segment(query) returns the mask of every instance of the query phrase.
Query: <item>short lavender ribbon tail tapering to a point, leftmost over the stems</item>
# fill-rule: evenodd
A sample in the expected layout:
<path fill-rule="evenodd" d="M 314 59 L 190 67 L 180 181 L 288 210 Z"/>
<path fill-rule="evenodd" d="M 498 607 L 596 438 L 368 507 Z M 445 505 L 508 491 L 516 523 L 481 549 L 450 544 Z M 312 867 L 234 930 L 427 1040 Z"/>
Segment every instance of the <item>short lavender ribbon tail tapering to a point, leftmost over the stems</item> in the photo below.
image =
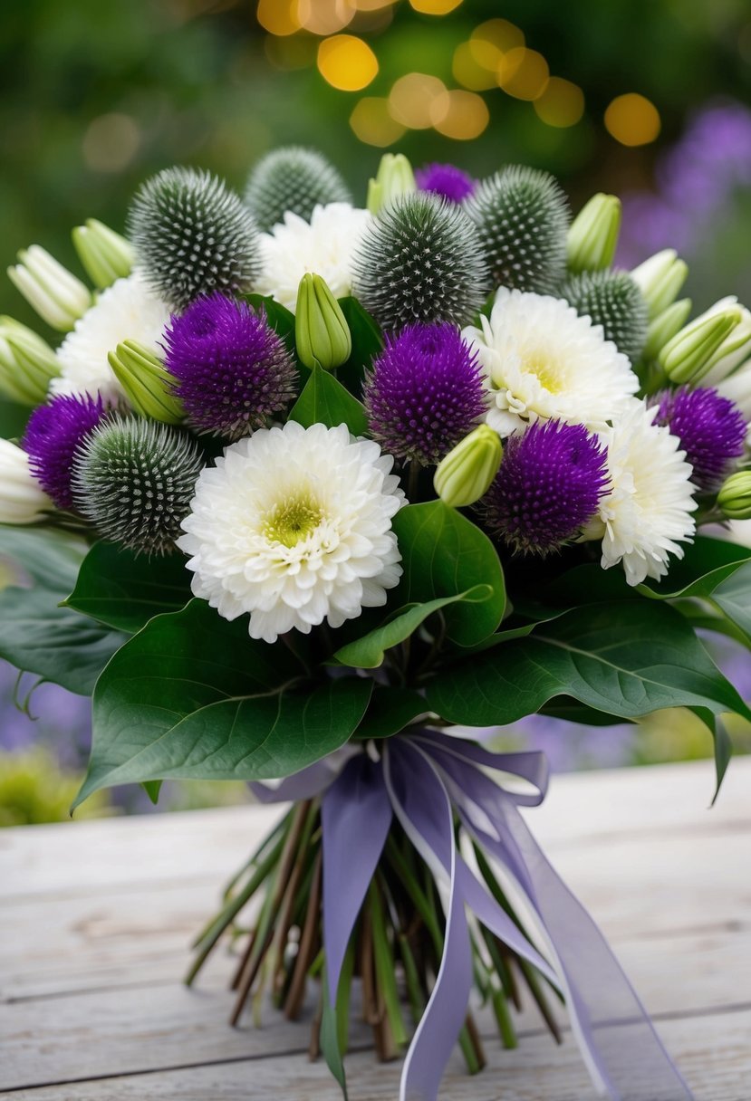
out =
<path fill-rule="evenodd" d="M 364 753 L 326 789 L 320 807 L 324 849 L 324 948 L 327 993 L 336 1003 L 347 945 L 391 826 L 383 771 Z"/>

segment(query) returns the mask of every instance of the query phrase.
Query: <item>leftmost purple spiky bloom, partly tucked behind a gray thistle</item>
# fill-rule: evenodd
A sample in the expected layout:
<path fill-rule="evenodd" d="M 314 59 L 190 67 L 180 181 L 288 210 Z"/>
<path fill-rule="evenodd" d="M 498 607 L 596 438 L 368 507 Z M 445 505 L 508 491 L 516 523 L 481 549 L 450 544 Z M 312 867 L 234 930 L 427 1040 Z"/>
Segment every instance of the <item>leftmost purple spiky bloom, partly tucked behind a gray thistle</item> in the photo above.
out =
<path fill-rule="evenodd" d="M 22 440 L 29 469 L 58 509 L 73 509 L 73 460 L 89 433 L 106 416 L 101 397 L 58 394 L 34 410 Z"/>

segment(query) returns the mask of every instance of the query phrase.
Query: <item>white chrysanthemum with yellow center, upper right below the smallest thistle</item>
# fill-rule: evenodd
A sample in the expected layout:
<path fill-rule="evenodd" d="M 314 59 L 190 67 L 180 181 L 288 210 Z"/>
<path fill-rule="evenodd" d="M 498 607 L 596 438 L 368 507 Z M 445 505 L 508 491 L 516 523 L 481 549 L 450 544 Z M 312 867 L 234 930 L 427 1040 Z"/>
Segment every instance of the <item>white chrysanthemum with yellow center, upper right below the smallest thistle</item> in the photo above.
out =
<path fill-rule="evenodd" d="M 481 324 L 462 336 L 477 350 L 490 392 L 488 424 L 501 436 L 553 418 L 603 430 L 639 389 L 602 327 L 562 298 L 501 287 Z"/>

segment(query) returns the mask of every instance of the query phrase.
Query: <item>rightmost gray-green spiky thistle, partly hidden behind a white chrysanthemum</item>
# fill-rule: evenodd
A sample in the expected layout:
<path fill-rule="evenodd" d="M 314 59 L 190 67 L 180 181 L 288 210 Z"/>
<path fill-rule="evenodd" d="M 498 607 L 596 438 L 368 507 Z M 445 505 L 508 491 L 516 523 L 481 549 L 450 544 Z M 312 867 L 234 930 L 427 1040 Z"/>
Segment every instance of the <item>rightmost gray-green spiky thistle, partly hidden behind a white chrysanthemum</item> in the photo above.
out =
<path fill-rule="evenodd" d="M 560 297 L 580 316 L 601 325 L 606 340 L 635 363 L 646 340 L 647 308 L 644 296 L 628 272 L 583 272 L 572 275 Z"/>

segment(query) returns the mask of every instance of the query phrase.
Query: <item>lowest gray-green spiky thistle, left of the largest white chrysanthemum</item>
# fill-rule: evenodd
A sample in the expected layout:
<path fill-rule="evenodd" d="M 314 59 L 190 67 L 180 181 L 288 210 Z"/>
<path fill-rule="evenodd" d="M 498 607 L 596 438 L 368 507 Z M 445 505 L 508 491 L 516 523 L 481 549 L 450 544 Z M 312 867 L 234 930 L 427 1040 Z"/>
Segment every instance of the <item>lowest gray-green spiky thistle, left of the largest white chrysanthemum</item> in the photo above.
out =
<path fill-rule="evenodd" d="M 149 555 L 171 554 L 203 467 L 187 433 L 116 416 L 76 456 L 74 502 L 104 538 Z"/>

